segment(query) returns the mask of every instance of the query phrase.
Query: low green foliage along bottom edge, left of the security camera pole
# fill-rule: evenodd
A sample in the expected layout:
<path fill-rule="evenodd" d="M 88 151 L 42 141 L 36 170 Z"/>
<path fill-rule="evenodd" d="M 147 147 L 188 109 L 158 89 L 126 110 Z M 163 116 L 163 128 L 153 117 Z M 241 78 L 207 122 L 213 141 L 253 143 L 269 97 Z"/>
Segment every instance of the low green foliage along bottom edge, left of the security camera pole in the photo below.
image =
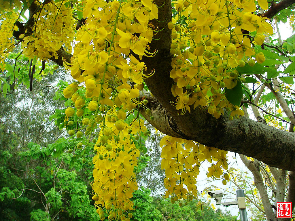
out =
<path fill-rule="evenodd" d="M 150 190 L 141 187 L 135 191 L 132 198 L 136 210 L 132 221 L 237 221 L 236 216 L 231 216 L 229 212 L 224 213 L 220 209 L 216 212 L 209 203 L 192 200 L 187 205 L 179 206 L 179 202 L 172 204 L 169 199 L 162 197 L 151 197 Z"/>

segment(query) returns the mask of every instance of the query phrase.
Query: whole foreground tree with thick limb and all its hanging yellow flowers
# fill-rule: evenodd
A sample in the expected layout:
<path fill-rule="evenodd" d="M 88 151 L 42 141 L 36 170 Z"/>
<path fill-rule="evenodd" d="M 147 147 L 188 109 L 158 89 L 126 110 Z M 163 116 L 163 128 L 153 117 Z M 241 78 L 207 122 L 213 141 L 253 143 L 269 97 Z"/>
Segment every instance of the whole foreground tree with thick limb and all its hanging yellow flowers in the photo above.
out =
<path fill-rule="evenodd" d="M 207 177 L 226 183 L 227 151 L 295 171 L 294 40 L 273 35 L 293 3 L 0 1 L 2 92 L 26 81 L 34 90 L 49 60 L 72 76 L 57 95 L 66 109 L 50 119 L 76 138 L 73 157 L 86 162 L 94 150 L 101 220 L 106 211 L 110 220 L 132 218 L 126 211 L 135 209 L 130 198 L 150 136 L 145 121 L 166 135 L 159 144 L 171 202 L 197 197 L 202 161 L 212 165 Z"/>

